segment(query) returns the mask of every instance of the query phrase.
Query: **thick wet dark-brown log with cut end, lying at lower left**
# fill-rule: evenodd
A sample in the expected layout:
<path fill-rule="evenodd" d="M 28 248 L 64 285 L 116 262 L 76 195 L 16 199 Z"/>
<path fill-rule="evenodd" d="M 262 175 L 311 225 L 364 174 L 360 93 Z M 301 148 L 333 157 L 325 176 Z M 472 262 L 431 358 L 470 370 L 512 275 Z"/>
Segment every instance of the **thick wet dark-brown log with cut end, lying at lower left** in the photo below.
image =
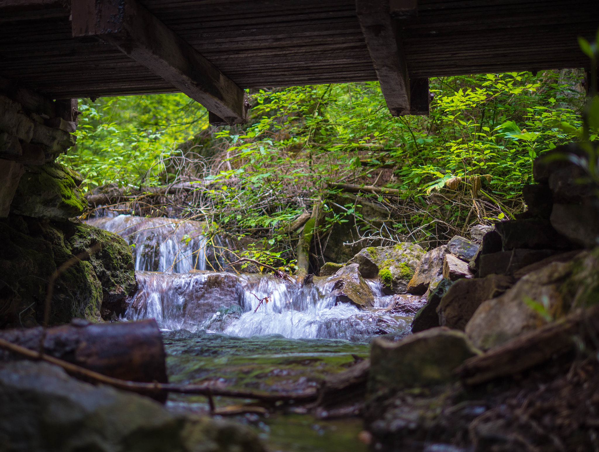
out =
<path fill-rule="evenodd" d="M 44 355 L 84 369 L 130 381 L 168 382 L 162 335 L 153 319 L 110 324 L 75 319 L 69 325 L 47 330 L 36 327 L 0 331 L 0 339 L 34 354 L 39 354 L 43 339 Z M 0 360 L 15 358 L 10 351 L 0 351 Z"/>

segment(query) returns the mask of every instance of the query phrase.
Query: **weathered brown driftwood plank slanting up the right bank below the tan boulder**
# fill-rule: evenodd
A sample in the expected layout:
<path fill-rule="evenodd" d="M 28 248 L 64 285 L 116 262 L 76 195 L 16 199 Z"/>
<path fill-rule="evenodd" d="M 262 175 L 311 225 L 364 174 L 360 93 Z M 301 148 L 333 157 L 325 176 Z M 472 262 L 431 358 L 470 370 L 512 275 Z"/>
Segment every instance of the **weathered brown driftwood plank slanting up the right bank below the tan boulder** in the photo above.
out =
<path fill-rule="evenodd" d="M 576 338 L 596 342 L 598 332 L 599 305 L 596 305 L 470 358 L 455 372 L 469 385 L 513 375 L 571 351 Z"/>

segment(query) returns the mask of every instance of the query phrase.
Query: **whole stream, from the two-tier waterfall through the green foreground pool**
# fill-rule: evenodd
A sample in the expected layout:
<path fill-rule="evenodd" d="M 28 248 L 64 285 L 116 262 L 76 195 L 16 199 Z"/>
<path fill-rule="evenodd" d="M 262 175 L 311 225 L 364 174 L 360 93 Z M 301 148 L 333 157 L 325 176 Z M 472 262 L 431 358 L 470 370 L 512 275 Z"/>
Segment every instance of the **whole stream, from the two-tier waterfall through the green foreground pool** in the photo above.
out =
<path fill-rule="evenodd" d="M 418 297 L 386 296 L 378 279 L 365 280 L 371 306 L 342 303 L 334 276 L 315 276 L 304 285 L 273 275 L 205 270 L 210 253 L 199 222 L 129 215 L 88 222 L 132 246 L 138 288 L 121 320 L 156 319 L 171 382 L 300 393 L 367 358 L 373 337 L 398 339 L 409 332 L 413 312 L 391 308 Z M 240 400 L 215 397 L 215 403 L 218 408 Z M 209 411 L 204 396 L 171 394 L 167 406 Z M 359 407 L 355 413 L 316 414 L 291 402 L 282 408 L 270 416 L 234 418 L 256 429 L 272 451 L 367 450 L 357 441 Z"/>

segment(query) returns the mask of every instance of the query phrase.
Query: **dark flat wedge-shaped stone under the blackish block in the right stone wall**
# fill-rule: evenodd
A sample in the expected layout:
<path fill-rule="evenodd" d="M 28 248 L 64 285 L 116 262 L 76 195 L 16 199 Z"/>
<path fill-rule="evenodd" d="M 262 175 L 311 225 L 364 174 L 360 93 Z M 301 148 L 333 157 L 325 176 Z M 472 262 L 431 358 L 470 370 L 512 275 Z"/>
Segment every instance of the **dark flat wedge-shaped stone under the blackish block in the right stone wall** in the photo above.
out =
<path fill-rule="evenodd" d="M 555 249 L 512 249 L 480 256 L 479 278 L 488 275 L 512 275 L 522 267 L 558 254 Z"/>

